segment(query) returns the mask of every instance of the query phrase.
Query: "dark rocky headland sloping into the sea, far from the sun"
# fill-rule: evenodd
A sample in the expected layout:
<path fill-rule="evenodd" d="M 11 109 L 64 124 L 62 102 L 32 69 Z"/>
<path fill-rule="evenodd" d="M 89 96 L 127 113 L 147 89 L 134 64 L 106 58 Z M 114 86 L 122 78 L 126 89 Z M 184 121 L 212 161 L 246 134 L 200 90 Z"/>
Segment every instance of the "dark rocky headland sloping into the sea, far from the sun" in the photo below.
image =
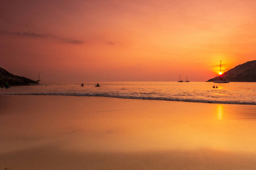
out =
<path fill-rule="evenodd" d="M 10 86 L 24 86 L 30 84 L 38 84 L 34 80 L 28 79 L 24 76 L 13 75 L 0 67 L 0 84 L 9 82 Z"/>

